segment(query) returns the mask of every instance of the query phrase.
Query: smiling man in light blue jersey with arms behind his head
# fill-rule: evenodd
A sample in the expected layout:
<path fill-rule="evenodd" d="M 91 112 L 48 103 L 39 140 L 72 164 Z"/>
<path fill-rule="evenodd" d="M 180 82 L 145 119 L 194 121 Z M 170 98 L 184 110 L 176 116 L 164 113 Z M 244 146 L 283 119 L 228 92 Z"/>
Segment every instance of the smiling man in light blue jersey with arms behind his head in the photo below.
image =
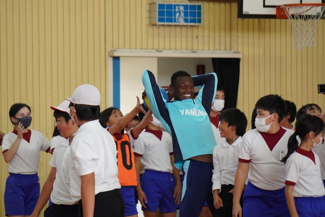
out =
<path fill-rule="evenodd" d="M 214 73 L 191 77 L 177 71 L 170 88 L 175 101 L 166 101 L 154 75 L 146 70 L 142 82 L 151 110 L 173 138 L 175 166 L 184 172 L 180 217 L 197 217 L 207 201 L 213 211 L 212 153 L 216 145 L 209 114 L 217 77 Z M 193 99 L 194 87 L 202 87 Z"/>

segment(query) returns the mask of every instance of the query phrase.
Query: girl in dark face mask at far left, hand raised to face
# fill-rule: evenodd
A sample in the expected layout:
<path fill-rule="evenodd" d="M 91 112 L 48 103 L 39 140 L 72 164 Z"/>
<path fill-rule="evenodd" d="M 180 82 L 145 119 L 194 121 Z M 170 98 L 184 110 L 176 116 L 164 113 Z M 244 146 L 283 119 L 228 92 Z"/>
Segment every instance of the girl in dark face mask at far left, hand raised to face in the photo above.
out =
<path fill-rule="evenodd" d="M 50 142 L 42 133 L 28 129 L 32 123 L 28 105 L 13 104 L 9 117 L 15 128 L 2 141 L 2 153 L 9 164 L 4 195 L 6 216 L 28 216 L 40 195 L 39 152 L 49 152 Z"/>

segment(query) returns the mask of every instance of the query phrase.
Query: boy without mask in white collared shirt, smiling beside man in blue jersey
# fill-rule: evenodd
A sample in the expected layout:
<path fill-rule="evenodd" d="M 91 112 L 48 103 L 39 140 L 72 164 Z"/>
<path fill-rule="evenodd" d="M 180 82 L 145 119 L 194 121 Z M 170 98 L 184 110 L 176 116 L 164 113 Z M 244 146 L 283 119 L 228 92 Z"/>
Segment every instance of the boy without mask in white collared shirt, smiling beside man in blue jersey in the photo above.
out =
<path fill-rule="evenodd" d="M 246 131 L 247 118 L 239 109 L 229 108 L 221 112 L 219 120 L 220 135 L 226 138 L 226 141 L 215 146 L 213 150 L 213 216 L 228 217 L 232 216 L 232 193 L 238 167 L 238 153 L 241 137 Z"/>

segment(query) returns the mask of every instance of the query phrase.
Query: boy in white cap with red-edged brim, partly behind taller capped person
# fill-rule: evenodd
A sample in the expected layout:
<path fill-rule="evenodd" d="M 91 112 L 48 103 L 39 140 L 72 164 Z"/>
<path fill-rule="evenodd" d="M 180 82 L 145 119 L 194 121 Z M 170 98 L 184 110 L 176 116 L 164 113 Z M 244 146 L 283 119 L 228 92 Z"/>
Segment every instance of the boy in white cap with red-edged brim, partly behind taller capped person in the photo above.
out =
<path fill-rule="evenodd" d="M 50 161 L 51 171 L 44 183 L 40 198 L 37 201 L 31 217 L 39 216 L 47 200 L 51 198 L 51 205 L 45 210 L 45 217 L 77 217 L 78 204 L 71 199 L 70 190 L 70 159 L 71 141 L 73 134 L 77 132 L 79 126 L 71 120 L 69 115 L 70 101 L 65 100 L 59 106 L 50 108 L 54 110 L 54 117 L 57 120 L 60 138 L 64 139 L 56 144 Z M 53 189 L 53 190 L 52 190 Z"/>

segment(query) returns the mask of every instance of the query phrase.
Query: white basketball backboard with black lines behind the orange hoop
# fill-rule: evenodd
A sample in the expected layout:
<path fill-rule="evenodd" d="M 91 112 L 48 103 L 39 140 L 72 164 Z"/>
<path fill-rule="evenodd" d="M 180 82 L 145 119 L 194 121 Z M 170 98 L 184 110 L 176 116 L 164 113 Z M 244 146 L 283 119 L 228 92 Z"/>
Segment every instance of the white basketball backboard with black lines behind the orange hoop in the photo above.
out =
<path fill-rule="evenodd" d="M 276 6 L 284 4 L 325 3 L 325 0 L 239 0 L 239 18 L 276 18 Z"/>

